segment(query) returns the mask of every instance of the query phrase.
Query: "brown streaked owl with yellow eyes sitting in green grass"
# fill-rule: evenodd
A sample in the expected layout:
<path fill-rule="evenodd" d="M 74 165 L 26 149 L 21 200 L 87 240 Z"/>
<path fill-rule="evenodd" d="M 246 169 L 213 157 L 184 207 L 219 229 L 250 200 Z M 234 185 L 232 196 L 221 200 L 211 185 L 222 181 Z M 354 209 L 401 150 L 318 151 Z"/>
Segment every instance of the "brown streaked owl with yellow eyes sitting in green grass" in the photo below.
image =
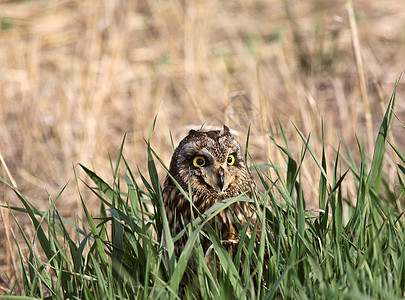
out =
<path fill-rule="evenodd" d="M 243 159 L 242 149 L 232 136 L 227 126 L 222 130 L 191 130 L 180 142 L 173 153 L 169 173 L 188 193 L 192 192 L 192 201 L 200 213 L 206 212 L 214 204 L 241 194 L 252 198 L 255 183 Z M 192 213 L 190 202 L 176 187 L 168 175 L 163 188 L 163 200 L 169 225 L 178 234 L 191 220 L 197 217 Z M 249 220 L 254 226 L 256 215 L 251 204 L 237 201 L 221 211 L 210 220 L 210 225 L 217 230 L 223 245 L 227 248 L 237 244 L 238 237 L 234 217 L 242 226 Z M 248 230 L 251 233 L 251 230 Z M 175 244 L 176 255 L 181 253 L 186 240 L 179 239 Z M 203 250 L 212 244 L 208 238 L 201 236 Z M 230 252 L 234 251 L 228 249 Z"/>

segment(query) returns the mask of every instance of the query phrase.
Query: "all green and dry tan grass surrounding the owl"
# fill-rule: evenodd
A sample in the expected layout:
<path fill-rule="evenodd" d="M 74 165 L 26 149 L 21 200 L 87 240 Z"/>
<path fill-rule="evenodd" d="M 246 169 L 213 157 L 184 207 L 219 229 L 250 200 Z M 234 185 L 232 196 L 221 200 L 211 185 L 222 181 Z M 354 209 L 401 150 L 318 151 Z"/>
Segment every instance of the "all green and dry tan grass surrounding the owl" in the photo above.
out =
<path fill-rule="evenodd" d="M 0 295 L 403 297 L 404 46 L 395 0 L 0 1 Z M 233 263 L 208 231 L 218 268 L 201 218 L 170 256 L 160 202 L 201 124 L 247 141 L 259 190 L 212 211 L 274 234 L 240 228 Z"/>

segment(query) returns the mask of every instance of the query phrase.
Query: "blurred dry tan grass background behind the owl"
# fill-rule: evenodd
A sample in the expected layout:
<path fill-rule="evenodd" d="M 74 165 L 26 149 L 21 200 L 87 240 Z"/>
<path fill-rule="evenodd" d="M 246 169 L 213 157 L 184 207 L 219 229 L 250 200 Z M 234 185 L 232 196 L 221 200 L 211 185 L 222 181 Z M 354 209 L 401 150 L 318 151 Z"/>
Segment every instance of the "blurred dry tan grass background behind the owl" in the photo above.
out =
<path fill-rule="evenodd" d="M 330 161 L 340 141 L 356 149 L 355 135 L 370 157 L 405 66 L 404 7 L 403 0 L 0 0 L 0 176 L 42 209 L 48 193 L 67 184 L 56 206 L 82 216 L 73 168 L 87 181 L 82 163 L 111 182 L 109 154 L 115 160 L 127 134 L 124 154 L 145 171 L 143 139 L 157 114 L 152 146 L 166 164 L 170 131 L 177 144 L 205 122 L 227 124 L 242 144 L 251 126 L 255 163 L 270 157 L 285 166 L 267 134 L 281 141 L 280 120 L 298 159 L 293 121 L 311 133 L 319 155 L 321 117 Z M 402 121 L 404 90 L 400 83 Z M 402 150 L 403 132 L 395 122 L 390 139 Z M 394 185 L 395 162 L 387 164 Z M 303 175 L 314 208 L 319 172 L 311 160 Z M 355 195 L 346 185 L 346 196 Z M 96 214 L 97 200 L 80 189 Z M 6 201 L 21 205 L 1 185 Z M 17 229 L 1 212 L 0 283 L 8 292 L 18 272 Z"/>

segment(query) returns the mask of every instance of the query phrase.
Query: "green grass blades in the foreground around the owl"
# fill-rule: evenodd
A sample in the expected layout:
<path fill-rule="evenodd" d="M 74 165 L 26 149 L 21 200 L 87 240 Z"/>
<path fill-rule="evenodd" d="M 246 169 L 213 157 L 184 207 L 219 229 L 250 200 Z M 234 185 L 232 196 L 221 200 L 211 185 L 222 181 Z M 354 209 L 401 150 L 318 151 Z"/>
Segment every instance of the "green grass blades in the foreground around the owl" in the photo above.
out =
<path fill-rule="evenodd" d="M 298 159 L 292 156 L 284 137 L 285 144 L 275 142 L 275 146 L 285 158 L 286 168 L 274 168 L 275 178 L 262 172 L 265 167 L 273 168 L 271 161 L 268 165 L 252 165 L 251 170 L 258 173 L 266 188 L 263 194 L 255 199 L 226 199 L 204 214 L 195 212 L 194 221 L 179 236 L 172 236 L 163 207 L 157 168 L 167 168 L 149 141 L 148 174 L 140 174 L 140 182 L 122 154 L 124 142 L 116 162 L 111 162 L 112 186 L 81 166 L 94 183 L 88 188 L 100 199 L 97 218 L 88 211 L 81 195 L 86 219 L 73 223 L 58 213 L 55 204 L 60 194 L 50 196 L 48 209 L 40 211 L 0 179 L 14 189 L 23 205 L 10 207 L 13 216 L 14 211 L 22 211 L 35 227 L 34 237 L 19 227 L 29 255 L 23 256 L 21 245 L 16 243 L 22 288 L 16 287 L 12 293 L 69 299 L 404 297 L 405 154 L 387 142 L 395 93 L 396 87 L 369 166 L 359 142 L 360 162 L 356 164 L 350 152 L 344 156 L 338 146 L 334 168 L 327 170 L 325 144 L 321 145 L 321 157 L 317 157 L 310 138 L 296 128 L 302 139 Z M 153 129 L 154 125 L 151 134 Z M 384 178 L 387 146 L 400 161 L 395 190 Z M 301 166 L 307 159 L 315 161 L 321 174 L 319 216 L 305 209 Z M 356 199 L 344 197 L 343 183 L 349 173 L 357 179 Z M 125 182 L 121 181 L 122 174 Z M 189 191 L 183 193 L 190 199 Z M 240 228 L 240 243 L 233 259 L 207 221 L 235 201 L 250 201 L 256 208 L 261 222 L 250 226 L 260 229 L 262 235 L 260 240 L 254 235 L 249 238 L 247 227 Z M 347 213 L 344 207 L 348 207 Z M 208 263 L 199 240 L 204 227 L 216 253 Z M 175 257 L 174 242 L 183 234 L 188 241 L 180 257 Z M 194 270 L 188 269 L 190 257 L 195 262 Z"/>

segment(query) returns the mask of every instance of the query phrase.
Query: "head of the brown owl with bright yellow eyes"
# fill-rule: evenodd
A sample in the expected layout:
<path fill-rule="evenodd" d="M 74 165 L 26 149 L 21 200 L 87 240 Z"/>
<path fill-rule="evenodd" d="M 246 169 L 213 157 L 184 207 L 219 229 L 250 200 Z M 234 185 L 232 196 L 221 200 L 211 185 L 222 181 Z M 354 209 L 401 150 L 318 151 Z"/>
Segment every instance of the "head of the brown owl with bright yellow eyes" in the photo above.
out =
<path fill-rule="evenodd" d="M 190 130 L 176 148 L 170 174 L 188 190 L 235 196 L 247 181 L 248 171 L 241 146 L 227 126 L 222 130 Z"/>

